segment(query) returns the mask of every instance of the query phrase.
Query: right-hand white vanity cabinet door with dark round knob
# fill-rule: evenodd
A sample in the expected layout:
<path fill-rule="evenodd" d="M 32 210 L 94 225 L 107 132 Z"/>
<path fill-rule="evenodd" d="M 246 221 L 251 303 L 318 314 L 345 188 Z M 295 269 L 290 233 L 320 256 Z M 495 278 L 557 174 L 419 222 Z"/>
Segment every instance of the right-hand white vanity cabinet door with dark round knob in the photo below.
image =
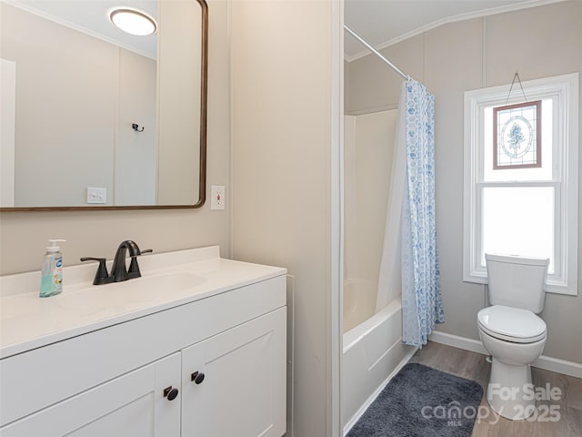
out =
<path fill-rule="evenodd" d="M 183 437 L 285 432 L 285 307 L 182 351 Z"/>

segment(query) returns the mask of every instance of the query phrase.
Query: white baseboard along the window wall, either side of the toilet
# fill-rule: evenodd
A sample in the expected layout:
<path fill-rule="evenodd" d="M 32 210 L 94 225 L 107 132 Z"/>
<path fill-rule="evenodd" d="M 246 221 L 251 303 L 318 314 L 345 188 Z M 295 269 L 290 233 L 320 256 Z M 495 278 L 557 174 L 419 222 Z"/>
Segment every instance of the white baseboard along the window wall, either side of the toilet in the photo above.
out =
<path fill-rule="evenodd" d="M 433 333 L 428 336 L 428 340 L 446 344 L 447 346 L 453 346 L 454 348 L 464 349 L 465 351 L 473 351 L 482 353 L 483 355 L 488 355 L 483 344 L 479 340 L 467 339 L 467 337 L 459 337 L 458 335 L 448 334 L 447 332 L 441 332 L 439 330 L 434 330 Z M 542 355 L 532 363 L 532 366 L 537 367 L 538 369 L 544 369 L 545 371 L 556 371 L 557 373 L 582 379 L 582 364 L 578 362 L 560 360 L 559 358 Z"/>

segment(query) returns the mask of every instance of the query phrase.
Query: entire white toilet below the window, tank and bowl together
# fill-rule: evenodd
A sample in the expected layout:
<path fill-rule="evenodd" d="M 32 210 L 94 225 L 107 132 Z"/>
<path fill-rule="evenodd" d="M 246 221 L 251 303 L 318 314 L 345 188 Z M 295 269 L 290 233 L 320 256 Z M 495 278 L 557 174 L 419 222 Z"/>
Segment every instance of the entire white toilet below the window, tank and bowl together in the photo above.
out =
<path fill-rule="evenodd" d="M 536 409 L 530 364 L 544 350 L 544 281 L 549 259 L 486 254 L 489 301 L 477 314 L 479 338 L 492 356 L 487 401 L 511 420 Z"/>

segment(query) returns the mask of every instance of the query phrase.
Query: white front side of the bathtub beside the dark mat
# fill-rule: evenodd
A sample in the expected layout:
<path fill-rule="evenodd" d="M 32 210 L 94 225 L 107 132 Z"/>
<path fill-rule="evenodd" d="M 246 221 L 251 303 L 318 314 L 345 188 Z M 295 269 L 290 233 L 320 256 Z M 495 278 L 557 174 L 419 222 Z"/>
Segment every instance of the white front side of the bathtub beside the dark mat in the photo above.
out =
<path fill-rule="evenodd" d="M 402 344 L 400 300 L 393 300 L 384 310 L 344 333 L 344 435 L 415 351 Z"/>

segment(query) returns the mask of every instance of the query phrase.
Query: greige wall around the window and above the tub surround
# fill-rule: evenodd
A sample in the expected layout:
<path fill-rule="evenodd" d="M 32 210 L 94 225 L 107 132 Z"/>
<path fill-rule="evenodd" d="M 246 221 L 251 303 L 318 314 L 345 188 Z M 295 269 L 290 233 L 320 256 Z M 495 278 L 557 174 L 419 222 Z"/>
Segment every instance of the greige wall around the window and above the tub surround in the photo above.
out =
<path fill-rule="evenodd" d="M 442 25 L 382 53 L 435 94 L 437 238 L 447 319 L 438 330 L 478 340 L 477 311 L 486 304 L 485 287 L 462 280 L 463 93 L 511 83 L 516 71 L 522 80 L 582 71 L 582 2 Z M 347 113 L 397 105 L 401 78 L 396 73 L 373 56 L 348 68 Z M 582 198 L 578 202 L 582 205 Z M 578 229 L 580 253 L 582 228 Z M 547 356 L 582 362 L 582 275 L 578 281 L 577 297 L 547 294 L 541 314 L 547 322 Z"/>

